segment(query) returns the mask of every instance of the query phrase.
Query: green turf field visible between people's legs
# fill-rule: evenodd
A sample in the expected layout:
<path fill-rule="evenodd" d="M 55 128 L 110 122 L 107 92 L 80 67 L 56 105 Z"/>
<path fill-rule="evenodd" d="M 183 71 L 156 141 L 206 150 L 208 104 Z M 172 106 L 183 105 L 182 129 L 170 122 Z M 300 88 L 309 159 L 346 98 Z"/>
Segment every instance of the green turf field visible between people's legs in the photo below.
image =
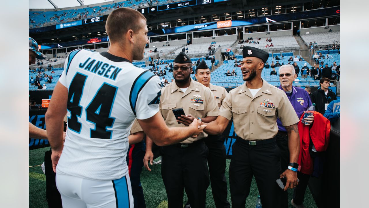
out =
<path fill-rule="evenodd" d="M 50 148 L 41 148 L 37 150 L 29 151 L 29 166 L 41 165 L 44 161 L 44 152 Z M 227 166 L 225 171 L 225 177 L 228 182 L 228 168 L 230 160 L 227 160 Z M 166 201 L 166 193 L 161 178 L 160 164 L 152 165 L 151 172 L 146 169 L 142 170 L 141 183 L 144 188 L 144 195 L 147 208 L 166 208 L 168 203 Z M 41 166 L 29 168 L 29 207 L 30 208 L 48 208 L 46 202 L 46 181 L 45 175 L 41 170 Z M 258 187 L 255 180 L 252 181 L 250 195 L 246 200 L 247 208 L 254 208 L 256 197 L 258 196 Z M 289 190 L 289 200 L 292 199 L 292 190 Z M 184 194 L 184 203 L 187 201 L 186 194 Z M 228 186 L 228 201 L 231 201 L 231 195 Z M 306 208 L 315 208 L 314 199 L 311 196 L 310 190 L 307 188 L 304 205 Z M 289 207 L 292 208 L 290 204 Z M 211 187 L 207 189 L 206 208 L 215 208 L 213 196 L 211 195 Z"/>

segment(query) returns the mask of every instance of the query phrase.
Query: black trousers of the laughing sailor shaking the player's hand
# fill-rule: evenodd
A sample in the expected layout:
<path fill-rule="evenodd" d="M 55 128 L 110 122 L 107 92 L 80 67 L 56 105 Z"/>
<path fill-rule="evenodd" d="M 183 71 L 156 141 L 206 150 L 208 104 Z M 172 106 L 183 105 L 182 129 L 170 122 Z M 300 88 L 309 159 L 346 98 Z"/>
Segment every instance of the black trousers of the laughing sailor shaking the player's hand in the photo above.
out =
<path fill-rule="evenodd" d="M 245 208 L 252 176 L 255 176 L 263 208 L 280 207 L 282 190 L 276 183 L 282 173 L 280 154 L 275 141 L 252 146 L 241 138 L 236 140 L 229 170 L 232 208 Z"/>

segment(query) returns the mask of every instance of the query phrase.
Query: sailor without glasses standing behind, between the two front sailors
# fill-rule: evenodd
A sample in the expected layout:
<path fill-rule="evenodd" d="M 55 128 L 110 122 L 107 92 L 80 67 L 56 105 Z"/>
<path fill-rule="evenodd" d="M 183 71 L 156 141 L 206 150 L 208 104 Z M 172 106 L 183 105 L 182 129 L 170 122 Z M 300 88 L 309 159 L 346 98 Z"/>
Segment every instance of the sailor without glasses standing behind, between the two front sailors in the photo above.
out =
<path fill-rule="evenodd" d="M 224 87 L 219 87 L 210 83 L 210 69 L 205 61 L 201 61 L 195 70 L 195 77 L 197 81 L 208 87 L 213 93 L 218 107 L 222 105 L 222 101 L 227 96 L 227 90 Z M 214 198 L 216 208 L 229 208 L 230 203 L 227 201 L 227 181 L 225 180 L 225 160 L 227 154 L 224 146 L 223 134 L 208 135 L 204 138 L 204 142 L 209 149 L 207 158 L 211 192 Z"/>

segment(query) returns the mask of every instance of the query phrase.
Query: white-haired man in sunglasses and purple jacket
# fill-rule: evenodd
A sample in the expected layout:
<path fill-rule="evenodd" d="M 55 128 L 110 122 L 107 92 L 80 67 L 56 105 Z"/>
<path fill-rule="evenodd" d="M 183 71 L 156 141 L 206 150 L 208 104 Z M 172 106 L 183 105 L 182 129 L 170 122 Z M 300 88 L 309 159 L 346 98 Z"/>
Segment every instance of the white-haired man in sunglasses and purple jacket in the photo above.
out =
<path fill-rule="evenodd" d="M 294 110 L 296 111 L 297 116 L 300 118 L 302 114 L 304 114 L 308 107 L 311 105 L 311 100 L 308 92 L 304 90 L 301 87 L 294 87 L 293 81 L 296 79 L 296 74 L 294 67 L 292 65 L 283 65 L 279 68 L 279 89 L 283 90 L 287 98 L 290 100 Z M 314 121 L 314 116 L 309 115 L 305 119 L 306 123 L 305 125 L 310 125 Z M 290 164 L 289 163 L 289 150 L 288 150 L 288 136 L 287 136 L 287 130 L 283 127 L 282 122 L 277 119 L 277 125 L 278 125 L 278 133 L 276 135 L 276 142 L 278 147 L 281 151 L 281 160 L 280 164 L 283 168 L 296 164 Z M 301 165 L 301 164 L 299 164 Z M 291 201 L 291 204 L 293 207 L 303 207 L 303 199 L 305 195 L 305 189 L 308 182 L 309 175 L 304 175 L 300 172 L 297 172 L 297 178 L 299 178 L 300 182 L 299 185 L 294 189 L 293 199 Z M 307 178 L 306 180 L 304 180 Z M 297 192 L 296 192 L 297 190 Z M 301 191 L 299 191 L 301 190 Z M 302 198 L 301 198 L 302 195 Z M 282 195 L 282 208 L 288 207 L 288 193 L 287 191 L 283 193 Z"/>

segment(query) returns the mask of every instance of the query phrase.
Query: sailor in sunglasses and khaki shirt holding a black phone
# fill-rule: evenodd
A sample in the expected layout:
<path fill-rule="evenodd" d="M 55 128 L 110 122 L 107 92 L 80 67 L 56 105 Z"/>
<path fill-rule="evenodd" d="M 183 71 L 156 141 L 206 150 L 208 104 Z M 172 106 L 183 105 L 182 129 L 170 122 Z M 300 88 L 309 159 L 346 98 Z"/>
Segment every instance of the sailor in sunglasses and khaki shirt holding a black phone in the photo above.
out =
<path fill-rule="evenodd" d="M 174 82 L 162 88 L 159 111 L 168 127 L 181 127 L 190 121 L 180 121 L 175 113 L 191 114 L 205 123 L 217 118 L 219 109 L 211 90 L 190 77 L 192 61 L 181 52 L 173 61 Z M 178 114 L 177 114 L 178 115 Z M 188 201 L 192 207 L 205 208 L 206 190 L 209 186 L 207 167 L 208 148 L 203 139 L 206 133 L 198 137 L 189 137 L 175 145 L 161 147 L 161 172 L 168 197 L 168 208 L 183 207 L 183 189 L 186 189 Z M 147 154 L 147 152 L 146 152 Z"/>

